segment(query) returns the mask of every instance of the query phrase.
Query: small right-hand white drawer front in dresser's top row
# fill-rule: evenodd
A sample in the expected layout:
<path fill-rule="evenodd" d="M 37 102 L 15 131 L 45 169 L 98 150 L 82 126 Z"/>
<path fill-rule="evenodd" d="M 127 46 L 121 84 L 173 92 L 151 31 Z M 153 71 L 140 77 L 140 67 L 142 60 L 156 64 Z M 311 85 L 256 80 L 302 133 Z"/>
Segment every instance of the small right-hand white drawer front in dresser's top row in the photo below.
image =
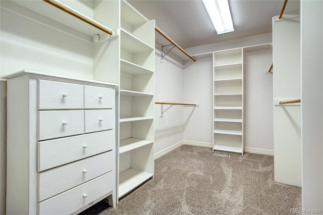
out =
<path fill-rule="evenodd" d="M 84 86 L 84 108 L 115 108 L 115 90 L 112 88 Z"/>

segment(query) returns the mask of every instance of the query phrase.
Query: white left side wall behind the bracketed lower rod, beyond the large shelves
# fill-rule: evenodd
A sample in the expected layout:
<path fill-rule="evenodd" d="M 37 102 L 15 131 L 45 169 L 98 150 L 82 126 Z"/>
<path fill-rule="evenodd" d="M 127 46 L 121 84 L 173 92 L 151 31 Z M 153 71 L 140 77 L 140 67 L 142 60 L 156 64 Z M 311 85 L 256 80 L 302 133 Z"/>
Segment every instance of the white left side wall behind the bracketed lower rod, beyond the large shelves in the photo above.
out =
<path fill-rule="evenodd" d="M 157 48 L 158 44 L 156 44 Z M 159 46 L 158 46 L 159 47 Z M 159 51 L 155 55 L 155 101 L 183 102 L 182 66 L 166 57 L 160 63 Z M 164 111 L 170 105 L 163 104 Z M 183 141 L 183 106 L 173 105 L 161 116 L 161 104 L 155 104 L 154 152 Z"/>

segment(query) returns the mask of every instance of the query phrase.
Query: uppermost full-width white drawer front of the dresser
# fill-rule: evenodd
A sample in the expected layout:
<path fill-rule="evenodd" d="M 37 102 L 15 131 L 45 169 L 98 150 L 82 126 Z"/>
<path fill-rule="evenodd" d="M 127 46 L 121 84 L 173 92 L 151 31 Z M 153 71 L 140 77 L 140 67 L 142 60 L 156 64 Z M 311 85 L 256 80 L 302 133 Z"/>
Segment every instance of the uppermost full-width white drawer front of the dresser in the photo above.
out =
<path fill-rule="evenodd" d="M 38 172 L 114 150 L 115 145 L 115 130 L 39 141 L 37 145 Z"/>

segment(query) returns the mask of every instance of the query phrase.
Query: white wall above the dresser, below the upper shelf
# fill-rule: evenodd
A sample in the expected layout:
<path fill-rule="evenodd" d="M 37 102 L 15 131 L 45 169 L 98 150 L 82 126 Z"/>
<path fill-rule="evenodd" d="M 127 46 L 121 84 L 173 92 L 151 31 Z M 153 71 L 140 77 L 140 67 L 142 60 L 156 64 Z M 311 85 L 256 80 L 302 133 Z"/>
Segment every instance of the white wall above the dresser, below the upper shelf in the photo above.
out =
<path fill-rule="evenodd" d="M 26 69 L 92 79 L 91 43 L 64 33 L 61 30 L 71 30 L 11 1 L 1 1 L 1 7 L 2 76 Z"/>

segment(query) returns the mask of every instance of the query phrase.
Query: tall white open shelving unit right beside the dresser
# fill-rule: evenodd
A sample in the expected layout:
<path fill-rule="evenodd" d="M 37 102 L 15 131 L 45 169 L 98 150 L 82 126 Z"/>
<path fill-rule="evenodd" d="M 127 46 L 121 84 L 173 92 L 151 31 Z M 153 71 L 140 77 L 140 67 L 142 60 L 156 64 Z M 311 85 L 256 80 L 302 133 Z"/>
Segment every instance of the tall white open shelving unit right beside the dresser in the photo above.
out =
<path fill-rule="evenodd" d="M 154 173 L 154 26 L 121 1 L 119 198 Z"/>

